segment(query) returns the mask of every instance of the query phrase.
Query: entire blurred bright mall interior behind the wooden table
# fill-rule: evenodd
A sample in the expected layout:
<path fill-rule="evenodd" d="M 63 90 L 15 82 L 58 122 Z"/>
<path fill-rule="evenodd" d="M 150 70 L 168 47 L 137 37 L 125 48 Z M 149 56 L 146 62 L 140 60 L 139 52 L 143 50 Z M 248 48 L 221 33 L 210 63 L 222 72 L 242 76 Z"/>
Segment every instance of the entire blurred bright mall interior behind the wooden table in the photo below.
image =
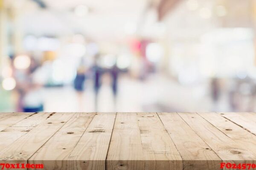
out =
<path fill-rule="evenodd" d="M 0 0 L 0 112 L 255 112 L 256 0 Z"/>

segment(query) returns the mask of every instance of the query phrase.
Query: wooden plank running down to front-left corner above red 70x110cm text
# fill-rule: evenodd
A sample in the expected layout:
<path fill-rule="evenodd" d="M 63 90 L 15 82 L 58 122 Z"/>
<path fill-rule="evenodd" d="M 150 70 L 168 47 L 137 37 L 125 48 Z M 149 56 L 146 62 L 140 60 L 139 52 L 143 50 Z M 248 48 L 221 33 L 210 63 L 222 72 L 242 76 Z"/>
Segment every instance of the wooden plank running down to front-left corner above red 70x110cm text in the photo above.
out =
<path fill-rule="evenodd" d="M 27 163 L 27 160 L 52 137 L 74 113 L 56 113 L 0 152 L 3 163 Z M 64 123 L 61 123 L 64 122 Z"/>

